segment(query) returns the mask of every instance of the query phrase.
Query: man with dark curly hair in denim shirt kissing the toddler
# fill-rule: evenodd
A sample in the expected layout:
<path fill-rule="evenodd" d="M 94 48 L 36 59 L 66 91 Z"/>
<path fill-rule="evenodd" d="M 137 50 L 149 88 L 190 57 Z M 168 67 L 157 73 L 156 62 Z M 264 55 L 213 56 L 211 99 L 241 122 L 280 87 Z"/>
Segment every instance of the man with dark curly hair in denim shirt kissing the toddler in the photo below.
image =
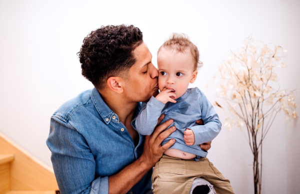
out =
<path fill-rule="evenodd" d="M 84 38 L 78 54 L 82 75 L 95 88 L 51 117 L 47 146 L 61 194 L 151 191 L 151 169 L 174 140 L 160 144 L 176 129 L 165 130 L 172 120 L 146 137 L 134 129 L 139 102 L 158 94 L 158 72 L 141 31 L 102 26 Z M 201 146 L 208 150 L 210 143 Z"/>

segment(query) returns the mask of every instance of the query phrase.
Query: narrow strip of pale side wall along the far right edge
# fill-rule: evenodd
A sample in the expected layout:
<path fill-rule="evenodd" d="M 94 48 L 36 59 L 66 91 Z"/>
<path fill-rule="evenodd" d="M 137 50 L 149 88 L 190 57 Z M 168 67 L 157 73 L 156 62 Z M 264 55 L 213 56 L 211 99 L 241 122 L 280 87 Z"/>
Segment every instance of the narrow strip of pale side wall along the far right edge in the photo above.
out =
<path fill-rule="evenodd" d="M 282 46 L 288 50 L 286 63 L 283 70 L 284 88 L 300 89 L 300 1 L 280 0 L 281 15 L 281 41 Z M 297 91 L 297 112 L 300 113 L 300 90 Z M 297 121 L 284 122 L 285 149 L 286 149 L 286 192 L 296 194 L 300 191 L 300 127 Z"/>

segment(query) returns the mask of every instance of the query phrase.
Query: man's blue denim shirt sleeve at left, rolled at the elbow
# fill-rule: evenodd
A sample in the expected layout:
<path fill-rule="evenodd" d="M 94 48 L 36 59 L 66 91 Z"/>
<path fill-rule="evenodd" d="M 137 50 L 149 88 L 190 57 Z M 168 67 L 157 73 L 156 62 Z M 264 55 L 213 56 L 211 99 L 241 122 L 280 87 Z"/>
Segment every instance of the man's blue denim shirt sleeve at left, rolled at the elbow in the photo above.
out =
<path fill-rule="evenodd" d="M 84 137 L 52 116 L 47 146 L 61 194 L 108 194 L 108 177 L 95 177 L 95 161 Z"/>

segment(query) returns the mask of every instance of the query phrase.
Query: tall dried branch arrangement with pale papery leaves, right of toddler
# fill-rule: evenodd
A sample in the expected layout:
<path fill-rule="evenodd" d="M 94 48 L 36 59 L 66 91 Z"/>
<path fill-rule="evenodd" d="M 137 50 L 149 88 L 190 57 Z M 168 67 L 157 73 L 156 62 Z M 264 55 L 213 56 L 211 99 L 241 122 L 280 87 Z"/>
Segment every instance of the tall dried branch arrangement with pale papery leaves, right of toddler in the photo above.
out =
<path fill-rule="evenodd" d="M 258 47 L 255 42 L 262 46 Z M 274 89 L 270 85 L 278 79 L 274 68 L 286 67 L 285 63 L 280 62 L 286 56 L 286 50 L 274 44 L 254 41 L 251 36 L 245 38 L 243 43 L 243 47 L 231 51 L 227 60 L 221 62 L 218 71 L 208 81 L 207 88 L 212 85 L 212 80 L 219 80 L 215 91 L 230 113 L 224 126 L 229 131 L 234 125 L 247 131 L 247 141 L 253 153 L 254 191 L 260 194 L 262 141 L 278 112 L 283 110 L 287 120 L 297 117 L 297 103 L 294 101 L 294 90 Z M 219 102 L 215 105 L 225 107 Z"/>

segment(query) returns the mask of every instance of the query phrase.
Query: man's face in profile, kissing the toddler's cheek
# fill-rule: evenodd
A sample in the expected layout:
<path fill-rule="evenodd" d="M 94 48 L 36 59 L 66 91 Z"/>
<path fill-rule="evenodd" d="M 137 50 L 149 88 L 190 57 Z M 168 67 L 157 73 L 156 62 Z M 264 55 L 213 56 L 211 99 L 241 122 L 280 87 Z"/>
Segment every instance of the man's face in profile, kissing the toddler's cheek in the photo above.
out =
<path fill-rule="evenodd" d="M 145 102 L 158 94 L 158 71 L 152 64 L 152 54 L 142 43 L 133 51 L 136 62 L 128 71 L 124 94 L 134 102 Z"/>

